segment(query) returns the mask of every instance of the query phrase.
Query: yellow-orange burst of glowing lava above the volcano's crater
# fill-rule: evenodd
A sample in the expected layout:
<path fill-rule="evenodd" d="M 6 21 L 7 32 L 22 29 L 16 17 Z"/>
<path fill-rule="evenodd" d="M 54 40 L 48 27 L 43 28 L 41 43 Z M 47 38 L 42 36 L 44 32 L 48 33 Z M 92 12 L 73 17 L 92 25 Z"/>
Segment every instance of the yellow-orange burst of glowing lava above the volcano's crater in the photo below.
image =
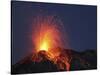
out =
<path fill-rule="evenodd" d="M 64 26 L 57 16 L 38 15 L 33 20 L 32 32 L 33 47 L 36 52 L 45 50 L 51 52 L 54 56 L 59 54 L 59 50 L 51 49 L 64 45 L 68 48 L 67 34 L 64 34 Z"/>

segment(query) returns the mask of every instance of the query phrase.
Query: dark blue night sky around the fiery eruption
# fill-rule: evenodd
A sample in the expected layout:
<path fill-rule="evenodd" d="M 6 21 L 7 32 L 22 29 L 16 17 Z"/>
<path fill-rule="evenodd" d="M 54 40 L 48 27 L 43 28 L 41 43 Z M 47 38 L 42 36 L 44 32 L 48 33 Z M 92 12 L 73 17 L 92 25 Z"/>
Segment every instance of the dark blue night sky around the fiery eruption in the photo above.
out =
<path fill-rule="evenodd" d="M 12 64 L 33 49 L 32 19 L 40 11 L 59 16 L 71 49 L 97 49 L 97 7 L 70 4 L 45 4 L 12 1 Z"/>

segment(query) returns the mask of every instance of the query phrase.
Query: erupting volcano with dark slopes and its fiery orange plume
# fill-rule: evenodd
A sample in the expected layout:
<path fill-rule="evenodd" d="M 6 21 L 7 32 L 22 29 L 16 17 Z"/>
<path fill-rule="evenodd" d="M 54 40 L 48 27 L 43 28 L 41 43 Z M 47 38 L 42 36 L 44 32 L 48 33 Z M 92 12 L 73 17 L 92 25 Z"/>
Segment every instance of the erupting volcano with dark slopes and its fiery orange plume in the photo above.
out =
<path fill-rule="evenodd" d="M 12 73 L 96 69 L 96 50 L 77 52 L 69 49 L 68 34 L 57 16 L 36 16 L 32 26 L 33 52 L 13 65 Z"/>

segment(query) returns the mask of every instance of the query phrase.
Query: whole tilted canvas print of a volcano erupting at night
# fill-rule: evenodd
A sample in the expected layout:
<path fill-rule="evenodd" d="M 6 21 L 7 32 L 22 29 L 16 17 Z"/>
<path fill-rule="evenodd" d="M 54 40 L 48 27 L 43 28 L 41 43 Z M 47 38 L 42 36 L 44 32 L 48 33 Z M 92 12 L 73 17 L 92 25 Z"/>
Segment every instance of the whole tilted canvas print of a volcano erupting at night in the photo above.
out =
<path fill-rule="evenodd" d="M 97 69 L 97 7 L 11 2 L 11 73 Z"/>

